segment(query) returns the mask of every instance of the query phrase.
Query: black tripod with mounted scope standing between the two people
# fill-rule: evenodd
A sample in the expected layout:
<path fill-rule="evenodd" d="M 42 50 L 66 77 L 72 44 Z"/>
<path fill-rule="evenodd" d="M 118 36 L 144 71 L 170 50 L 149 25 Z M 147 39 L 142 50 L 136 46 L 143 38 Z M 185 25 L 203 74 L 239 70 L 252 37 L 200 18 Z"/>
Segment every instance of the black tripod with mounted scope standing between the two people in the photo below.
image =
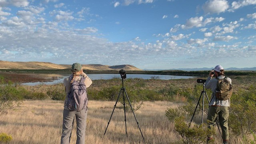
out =
<path fill-rule="evenodd" d="M 130 107 L 131 107 L 132 113 L 133 113 L 133 115 L 134 115 L 134 118 L 135 118 L 135 120 L 136 120 L 136 123 L 137 123 L 137 125 L 138 125 L 138 128 L 140 129 L 139 123 L 138 123 L 138 121 L 137 121 L 137 119 L 136 119 L 136 116 L 135 116 L 135 114 L 134 114 L 134 111 L 133 111 L 133 109 L 132 109 L 132 105 L 131 105 L 130 99 L 129 99 L 129 97 L 128 97 L 127 93 L 126 93 L 126 90 L 125 90 L 125 88 L 124 88 L 124 80 L 123 80 L 123 79 L 126 78 L 125 71 L 124 71 L 124 70 L 120 70 L 119 73 L 121 74 L 121 78 L 122 78 L 122 88 L 120 89 L 120 92 L 119 92 L 119 94 L 118 94 L 118 98 L 117 98 L 117 100 L 116 100 L 116 104 L 117 104 L 117 102 L 118 102 L 118 99 L 119 99 L 119 96 L 120 96 L 121 92 L 123 93 L 123 100 L 124 100 L 124 92 L 125 92 L 126 98 L 127 98 L 128 102 L 129 102 L 129 104 L 130 104 Z M 112 114 L 111 114 L 111 116 L 110 116 L 110 119 L 109 119 L 109 121 L 108 121 L 108 125 L 109 125 L 109 123 L 110 123 L 110 120 L 111 120 L 112 115 L 113 115 L 113 113 L 114 113 L 114 110 L 115 110 L 115 108 L 116 108 L 116 104 L 114 105 L 114 109 L 113 109 Z M 125 121 L 125 132 L 126 132 L 126 136 L 127 136 L 126 113 L 125 113 L 125 100 L 124 100 L 124 121 Z M 105 132 L 104 132 L 104 136 L 105 136 L 106 131 L 107 131 L 107 129 L 108 129 L 108 125 L 107 125 L 107 127 L 106 127 Z M 142 138 L 143 138 L 143 141 L 145 141 L 141 130 L 140 130 L 140 134 L 141 134 L 141 136 L 142 136 Z M 103 136 L 103 137 L 104 137 L 104 136 Z"/>

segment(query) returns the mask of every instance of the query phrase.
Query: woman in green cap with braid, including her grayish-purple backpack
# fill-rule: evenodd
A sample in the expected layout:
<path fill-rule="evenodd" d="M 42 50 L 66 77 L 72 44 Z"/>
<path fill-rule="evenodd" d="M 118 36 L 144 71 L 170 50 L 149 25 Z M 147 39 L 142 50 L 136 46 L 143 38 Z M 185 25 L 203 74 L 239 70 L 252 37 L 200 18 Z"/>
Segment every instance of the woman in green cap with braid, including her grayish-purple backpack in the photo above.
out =
<path fill-rule="evenodd" d="M 76 116 L 76 144 L 85 143 L 85 129 L 87 118 L 87 90 L 92 80 L 83 72 L 82 65 L 79 63 L 72 64 L 71 76 L 64 79 L 66 90 L 66 99 L 64 102 L 62 135 L 60 144 L 69 144 L 71 131 Z M 80 94 L 82 94 L 80 96 Z M 76 97 L 78 98 L 76 99 Z"/>

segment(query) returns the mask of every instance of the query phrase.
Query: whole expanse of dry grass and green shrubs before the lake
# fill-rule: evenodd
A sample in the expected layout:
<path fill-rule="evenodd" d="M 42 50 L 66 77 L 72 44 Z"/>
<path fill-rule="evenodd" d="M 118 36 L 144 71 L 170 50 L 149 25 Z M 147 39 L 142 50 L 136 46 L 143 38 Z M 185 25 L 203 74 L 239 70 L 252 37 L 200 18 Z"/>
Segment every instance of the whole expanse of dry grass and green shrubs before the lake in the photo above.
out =
<path fill-rule="evenodd" d="M 5 78 L 4 76 L 0 78 L 2 102 L 0 133 L 5 134 L 6 138 L 7 136 L 12 138 L 6 143 L 59 143 L 63 100 L 66 96 L 63 84 L 24 86 L 15 81 L 5 80 Z M 256 122 L 254 121 L 256 118 L 253 112 L 256 111 L 256 77 L 239 75 L 230 76 L 230 78 L 232 78 L 234 89 L 229 119 L 230 143 L 254 144 L 256 142 Z M 94 80 L 92 86 L 88 88 L 90 103 L 86 128 L 87 142 L 91 144 L 202 143 L 208 131 L 205 125 L 200 125 L 202 113 L 199 108 L 188 129 L 203 88 L 202 84 L 196 83 L 196 79 L 158 80 L 152 78 L 143 80 L 134 78 L 124 80 L 124 87 L 133 109 L 136 110 L 135 115 L 145 142 L 129 110 L 126 113 L 128 126 L 126 136 L 122 98 L 103 138 L 122 82 L 120 78 Z M 206 93 L 210 98 L 211 92 L 206 90 Z M 207 103 L 205 100 L 205 118 Z M 76 139 L 75 131 L 74 128 L 72 143 Z M 216 139 L 212 143 L 220 143 L 221 136 L 217 127 L 214 133 Z M 195 141 L 195 138 L 202 138 L 202 140 Z"/>

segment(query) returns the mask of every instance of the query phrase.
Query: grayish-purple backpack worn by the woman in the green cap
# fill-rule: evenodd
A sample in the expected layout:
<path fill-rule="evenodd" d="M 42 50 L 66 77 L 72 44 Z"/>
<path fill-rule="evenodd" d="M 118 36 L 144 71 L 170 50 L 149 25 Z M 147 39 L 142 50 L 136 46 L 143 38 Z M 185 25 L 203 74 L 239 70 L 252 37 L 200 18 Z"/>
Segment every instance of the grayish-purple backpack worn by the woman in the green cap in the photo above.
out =
<path fill-rule="evenodd" d="M 72 80 L 72 76 L 69 77 Z M 74 81 L 70 84 L 70 91 L 67 95 L 68 108 L 73 111 L 80 111 L 84 108 L 87 110 L 88 97 L 87 90 L 84 84 L 84 77 L 81 77 L 81 80 Z"/>

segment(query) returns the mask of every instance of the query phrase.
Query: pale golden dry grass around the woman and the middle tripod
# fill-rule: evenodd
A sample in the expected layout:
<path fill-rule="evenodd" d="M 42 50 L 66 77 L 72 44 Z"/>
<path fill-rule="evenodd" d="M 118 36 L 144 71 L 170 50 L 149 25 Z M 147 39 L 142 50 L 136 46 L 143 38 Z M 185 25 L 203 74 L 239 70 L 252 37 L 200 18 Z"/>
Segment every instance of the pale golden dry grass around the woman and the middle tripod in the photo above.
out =
<path fill-rule="evenodd" d="M 86 128 L 87 144 L 140 144 L 144 143 L 132 113 L 126 112 L 115 102 L 90 101 Z M 165 116 L 167 107 L 177 107 L 172 102 L 145 102 L 135 112 L 146 144 L 176 144 L 178 137 L 174 125 Z M 0 117 L 0 132 L 12 135 L 10 144 L 58 144 L 62 130 L 63 102 L 54 100 L 26 100 L 23 110 L 9 110 Z M 72 130 L 71 144 L 75 144 L 76 128 Z"/>

